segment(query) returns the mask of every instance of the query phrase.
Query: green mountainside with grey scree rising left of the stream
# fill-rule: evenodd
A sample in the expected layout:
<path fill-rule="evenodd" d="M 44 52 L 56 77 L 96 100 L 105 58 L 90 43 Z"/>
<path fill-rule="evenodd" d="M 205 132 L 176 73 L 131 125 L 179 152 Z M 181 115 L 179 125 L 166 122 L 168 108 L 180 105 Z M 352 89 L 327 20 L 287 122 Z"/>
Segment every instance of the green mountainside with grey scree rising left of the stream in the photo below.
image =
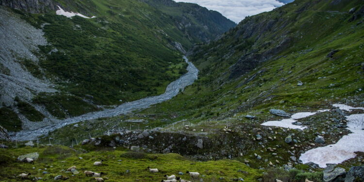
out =
<path fill-rule="evenodd" d="M 35 45 L 28 39 L 37 42 L 34 33 L 38 32 L 47 41 L 29 50 L 33 53 L 31 58 L 22 56 L 19 49 L 7 52 L 11 60 L 0 57 L 1 74 L 9 74 L 8 67 L 14 62 L 19 65 L 19 72 L 53 87 L 50 91 L 34 89 L 22 82 L 17 86 L 23 87 L 24 92 L 1 87 L 1 93 L 7 93 L 1 95 L 1 118 L 12 119 L 3 119 L 0 125 L 10 126 L 14 122 L 16 130 L 21 129 L 16 115 L 26 122 L 23 127 L 29 129 L 39 125 L 34 123 L 37 121 L 79 116 L 103 109 L 98 105 L 116 105 L 161 94 L 168 83 L 186 72 L 182 60 L 185 50 L 195 43 L 215 39 L 235 26 L 222 15 L 192 4 L 174 9 L 189 12 L 184 19 L 167 15 L 162 11 L 164 7 L 135 0 L 0 0 L 0 5 L 2 12 L 10 15 L 3 16 L 0 23 L 9 24 L 13 18 L 34 27 L 29 35 L 17 32 L 18 37 L 24 37 L 23 44 Z M 94 18 L 56 15 L 59 7 Z M 200 10 L 199 17 L 204 17 L 198 20 Z M 7 38 L 1 40 L 1 50 L 17 47 L 10 28 L 4 30 Z M 5 78 L 1 77 L 2 83 L 8 83 Z"/>

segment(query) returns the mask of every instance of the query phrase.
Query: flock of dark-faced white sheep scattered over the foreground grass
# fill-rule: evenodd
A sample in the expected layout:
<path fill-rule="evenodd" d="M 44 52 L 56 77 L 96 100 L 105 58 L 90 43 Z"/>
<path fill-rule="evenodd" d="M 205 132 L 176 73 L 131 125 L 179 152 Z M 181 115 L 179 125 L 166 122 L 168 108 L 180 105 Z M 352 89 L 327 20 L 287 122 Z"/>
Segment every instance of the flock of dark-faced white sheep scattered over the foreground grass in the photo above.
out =
<path fill-rule="evenodd" d="M 31 159 L 31 158 L 25 158 L 23 160 L 23 162 L 34 164 L 34 160 Z M 102 165 L 102 160 L 94 162 L 94 165 L 95 166 Z M 76 166 L 69 167 L 67 169 L 67 171 L 72 171 L 72 169 L 76 169 Z M 157 168 L 147 167 L 147 169 L 149 170 L 149 172 L 152 172 L 152 173 L 159 172 Z M 103 172 L 97 173 L 97 172 L 93 172 L 93 171 L 84 171 L 83 173 L 87 177 L 95 177 L 95 180 L 97 182 L 104 182 L 104 180 L 108 180 L 107 177 L 103 177 L 103 178 L 101 177 L 104 174 Z M 189 174 L 190 177 L 193 180 L 199 179 L 199 173 L 198 172 L 189 172 L 189 171 L 187 171 L 186 173 Z M 19 174 L 21 179 L 28 179 L 30 175 L 31 175 L 31 173 L 21 173 L 21 174 Z M 164 177 L 166 178 L 166 180 L 162 180 L 162 182 L 190 182 L 190 181 L 187 181 L 187 180 L 182 180 L 180 177 L 176 177 L 176 175 L 171 175 L 171 176 L 165 175 Z M 67 176 L 60 175 L 60 180 L 67 180 L 67 179 L 68 179 Z"/>

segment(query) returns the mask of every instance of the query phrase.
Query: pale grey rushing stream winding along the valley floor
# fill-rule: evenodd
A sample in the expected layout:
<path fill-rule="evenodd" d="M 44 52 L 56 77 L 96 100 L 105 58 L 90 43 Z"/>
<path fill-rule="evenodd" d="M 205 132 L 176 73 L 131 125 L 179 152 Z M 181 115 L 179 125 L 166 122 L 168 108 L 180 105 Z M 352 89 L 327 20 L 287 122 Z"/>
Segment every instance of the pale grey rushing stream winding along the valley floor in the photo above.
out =
<path fill-rule="evenodd" d="M 100 117 L 118 116 L 135 110 L 146 109 L 150 105 L 172 99 L 180 92 L 180 90 L 183 90 L 186 86 L 191 85 L 198 78 L 199 70 L 196 68 L 196 66 L 189 62 L 186 57 L 183 57 L 183 59 L 188 63 L 188 72 L 182 75 L 178 80 L 169 83 L 169 85 L 165 89 L 164 94 L 161 94 L 159 96 L 147 97 L 132 102 L 126 102 L 117 106 L 115 109 L 105 109 L 103 111 L 87 113 L 81 116 L 70 117 L 63 120 L 54 120 L 54 124 L 36 130 L 23 130 L 20 132 L 13 132 L 9 134 L 11 135 L 13 140 L 32 140 L 40 135 L 47 134 L 48 132 L 54 131 L 68 124 L 73 124 L 84 120 L 97 119 Z"/>

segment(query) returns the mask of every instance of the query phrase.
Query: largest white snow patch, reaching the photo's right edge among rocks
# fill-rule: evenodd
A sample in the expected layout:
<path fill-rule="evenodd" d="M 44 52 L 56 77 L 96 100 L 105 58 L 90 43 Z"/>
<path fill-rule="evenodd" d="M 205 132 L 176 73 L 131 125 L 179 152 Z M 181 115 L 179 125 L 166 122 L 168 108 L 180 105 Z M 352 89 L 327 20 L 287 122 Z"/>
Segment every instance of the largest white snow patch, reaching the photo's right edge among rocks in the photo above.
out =
<path fill-rule="evenodd" d="M 345 110 L 349 107 L 343 105 L 340 109 Z M 346 118 L 348 120 L 347 129 L 352 133 L 343 136 L 336 144 L 306 151 L 299 157 L 303 164 L 314 162 L 320 167 L 326 167 L 326 164 L 339 164 L 355 157 L 354 152 L 364 152 L 364 114 L 350 115 L 346 116 Z"/>

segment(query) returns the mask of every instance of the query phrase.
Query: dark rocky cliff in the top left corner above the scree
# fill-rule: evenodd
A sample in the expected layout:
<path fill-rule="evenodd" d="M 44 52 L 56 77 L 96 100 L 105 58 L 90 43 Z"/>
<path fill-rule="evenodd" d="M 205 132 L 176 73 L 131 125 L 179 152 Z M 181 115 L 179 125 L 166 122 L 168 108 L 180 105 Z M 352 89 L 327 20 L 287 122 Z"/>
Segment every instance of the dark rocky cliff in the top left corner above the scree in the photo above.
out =
<path fill-rule="evenodd" d="M 0 5 L 28 13 L 46 13 L 58 10 L 57 3 L 53 0 L 0 0 Z"/>

